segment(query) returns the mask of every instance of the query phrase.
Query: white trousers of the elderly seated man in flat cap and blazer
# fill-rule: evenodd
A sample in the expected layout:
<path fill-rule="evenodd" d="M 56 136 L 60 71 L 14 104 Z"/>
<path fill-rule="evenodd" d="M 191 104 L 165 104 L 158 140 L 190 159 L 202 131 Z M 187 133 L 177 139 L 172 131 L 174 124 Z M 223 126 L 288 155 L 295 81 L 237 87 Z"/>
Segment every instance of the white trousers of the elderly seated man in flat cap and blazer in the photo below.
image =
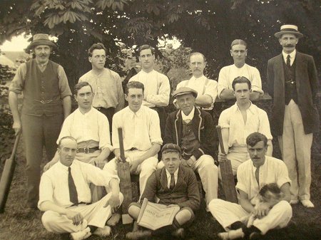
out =
<path fill-rule="evenodd" d="M 158 169 L 162 167 L 164 167 L 163 161 L 157 165 Z M 200 175 L 200 181 L 206 194 L 206 206 L 208 206 L 212 199 L 218 198 L 218 167 L 216 167 L 213 157 L 210 155 L 200 156 L 191 167 L 193 171 L 197 171 Z"/>

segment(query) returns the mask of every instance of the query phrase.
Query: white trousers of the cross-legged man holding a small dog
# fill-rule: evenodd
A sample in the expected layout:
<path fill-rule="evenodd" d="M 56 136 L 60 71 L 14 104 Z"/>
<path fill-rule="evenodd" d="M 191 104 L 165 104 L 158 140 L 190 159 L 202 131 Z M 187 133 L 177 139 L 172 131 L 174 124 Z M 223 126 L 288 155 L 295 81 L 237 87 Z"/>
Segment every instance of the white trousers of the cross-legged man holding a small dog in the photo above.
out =
<path fill-rule="evenodd" d="M 230 230 L 230 225 L 235 221 L 242 221 L 245 225 L 248 223 L 250 213 L 246 212 L 239 204 L 227 202 L 222 199 L 213 199 L 208 205 L 210 213 L 223 226 L 225 231 Z M 292 217 L 292 207 L 286 201 L 275 204 L 270 212 L 262 219 L 255 219 L 253 226 L 260 229 L 262 234 L 266 234 L 270 229 L 283 228 L 287 226 Z"/>

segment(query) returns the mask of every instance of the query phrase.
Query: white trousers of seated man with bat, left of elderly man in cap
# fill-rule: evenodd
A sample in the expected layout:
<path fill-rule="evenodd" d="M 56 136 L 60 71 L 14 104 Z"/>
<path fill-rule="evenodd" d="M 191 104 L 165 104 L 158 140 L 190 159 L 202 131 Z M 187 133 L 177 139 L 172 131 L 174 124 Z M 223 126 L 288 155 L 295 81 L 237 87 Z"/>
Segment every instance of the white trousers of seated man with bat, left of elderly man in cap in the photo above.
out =
<path fill-rule="evenodd" d="M 135 150 L 135 151 L 126 151 L 125 153 L 126 155 L 128 155 L 131 161 L 134 161 L 137 157 L 143 155 L 145 152 Z M 148 159 L 144 160 L 140 165 L 138 165 L 136 172 L 134 174 L 139 174 L 139 189 L 141 194 L 143 194 L 144 192 L 148 177 L 151 176 L 151 174 L 156 171 L 157 163 L 158 163 L 158 158 L 156 155 L 154 157 L 149 157 Z M 109 172 L 110 174 L 118 174 L 115 159 L 106 163 L 105 167 L 103 167 L 103 170 Z M 110 192 L 110 189 L 106 187 L 106 191 Z"/>

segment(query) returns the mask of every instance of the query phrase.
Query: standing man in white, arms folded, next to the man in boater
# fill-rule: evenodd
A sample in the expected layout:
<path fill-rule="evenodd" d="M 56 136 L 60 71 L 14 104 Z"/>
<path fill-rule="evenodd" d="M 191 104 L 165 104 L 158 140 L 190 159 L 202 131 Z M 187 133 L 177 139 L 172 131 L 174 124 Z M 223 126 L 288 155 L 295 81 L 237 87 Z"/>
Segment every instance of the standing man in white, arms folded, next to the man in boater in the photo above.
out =
<path fill-rule="evenodd" d="M 225 100 L 235 99 L 232 82 L 239 76 L 248 78 L 251 82 L 252 92 L 250 94 L 250 100 L 258 100 L 260 95 L 263 95 L 260 72 L 257 68 L 245 63 L 247 55 L 248 44 L 242 39 L 235 39 L 230 44 L 230 56 L 233 57 L 234 63 L 220 70 L 218 75 L 219 98 Z"/>

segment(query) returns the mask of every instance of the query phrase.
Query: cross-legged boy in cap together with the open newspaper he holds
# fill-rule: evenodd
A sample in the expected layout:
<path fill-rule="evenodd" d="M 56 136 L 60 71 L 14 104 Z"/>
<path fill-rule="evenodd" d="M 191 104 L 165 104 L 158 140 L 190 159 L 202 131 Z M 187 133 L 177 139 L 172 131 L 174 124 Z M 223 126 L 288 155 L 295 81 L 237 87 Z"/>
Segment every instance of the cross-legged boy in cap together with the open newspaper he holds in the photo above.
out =
<path fill-rule="evenodd" d="M 194 212 L 200 207 L 200 194 L 193 169 L 180 165 L 180 154 L 178 145 L 163 146 L 165 166 L 148 178 L 141 202 L 133 202 L 128 207 L 128 214 L 138 226 L 134 225 L 133 231 L 126 235 L 127 239 L 143 239 L 167 232 L 183 238 L 183 226 L 193 221 Z M 156 197 L 158 204 L 154 203 Z M 141 229 L 141 226 L 145 228 Z"/>

